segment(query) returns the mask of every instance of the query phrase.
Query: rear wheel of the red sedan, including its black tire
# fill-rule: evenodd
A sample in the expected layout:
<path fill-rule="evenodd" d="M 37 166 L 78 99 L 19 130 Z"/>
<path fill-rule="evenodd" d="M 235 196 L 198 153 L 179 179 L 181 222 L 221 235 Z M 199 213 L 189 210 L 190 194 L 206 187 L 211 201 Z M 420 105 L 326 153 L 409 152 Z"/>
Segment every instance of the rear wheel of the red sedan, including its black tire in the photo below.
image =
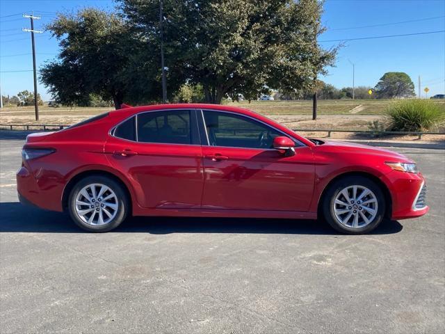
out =
<path fill-rule="evenodd" d="M 117 228 L 126 218 L 129 198 L 115 180 L 92 175 L 73 187 L 68 198 L 68 211 L 74 223 L 83 230 L 108 232 Z"/>

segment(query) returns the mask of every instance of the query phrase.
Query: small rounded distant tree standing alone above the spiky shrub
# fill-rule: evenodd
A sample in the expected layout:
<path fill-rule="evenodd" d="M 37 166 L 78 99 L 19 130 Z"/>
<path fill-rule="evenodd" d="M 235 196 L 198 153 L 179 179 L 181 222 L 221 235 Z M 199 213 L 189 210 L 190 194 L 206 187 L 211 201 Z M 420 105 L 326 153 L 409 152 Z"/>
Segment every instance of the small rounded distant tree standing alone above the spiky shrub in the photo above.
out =
<path fill-rule="evenodd" d="M 404 72 L 387 72 L 375 85 L 375 95 L 380 99 L 412 97 L 415 95 L 414 84 L 410 76 Z"/>

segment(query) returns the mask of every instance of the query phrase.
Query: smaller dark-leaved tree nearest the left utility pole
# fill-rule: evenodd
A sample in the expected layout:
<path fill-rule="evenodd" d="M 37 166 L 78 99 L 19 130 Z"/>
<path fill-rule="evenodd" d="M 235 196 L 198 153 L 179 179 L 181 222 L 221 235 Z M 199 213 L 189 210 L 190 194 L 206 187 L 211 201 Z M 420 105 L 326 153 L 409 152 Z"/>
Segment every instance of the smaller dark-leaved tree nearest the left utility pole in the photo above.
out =
<path fill-rule="evenodd" d="M 138 63 L 138 36 L 134 36 L 124 20 L 113 13 L 95 8 L 76 14 L 60 14 L 47 26 L 58 39 L 57 61 L 44 65 L 40 80 L 49 87 L 56 102 L 86 105 L 90 94 L 103 101 L 113 100 L 119 109 L 124 100 L 149 99 L 154 76 L 145 72 L 144 83 L 131 78 L 134 72 L 152 65 Z M 147 48 L 149 49 L 149 48 Z"/>

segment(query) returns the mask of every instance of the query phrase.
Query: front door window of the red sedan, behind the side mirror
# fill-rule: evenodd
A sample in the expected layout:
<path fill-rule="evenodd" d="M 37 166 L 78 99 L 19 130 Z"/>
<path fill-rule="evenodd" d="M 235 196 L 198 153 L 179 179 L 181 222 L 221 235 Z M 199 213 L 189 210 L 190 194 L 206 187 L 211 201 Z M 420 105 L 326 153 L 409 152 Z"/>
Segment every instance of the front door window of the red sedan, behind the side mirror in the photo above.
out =
<path fill-rule="evenodd" d="M 273 139 L 283 136 L 260 122 L 232 113 L 203 111 L 209 145 L 232 148 L 272 148 Z"/>

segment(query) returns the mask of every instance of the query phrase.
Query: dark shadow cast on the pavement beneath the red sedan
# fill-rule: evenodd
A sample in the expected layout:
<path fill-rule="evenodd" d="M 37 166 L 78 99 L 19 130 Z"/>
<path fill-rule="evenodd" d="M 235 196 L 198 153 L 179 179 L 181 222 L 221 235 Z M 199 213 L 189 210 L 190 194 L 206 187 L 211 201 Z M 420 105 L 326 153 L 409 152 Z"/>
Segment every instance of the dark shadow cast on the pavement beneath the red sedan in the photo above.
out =
<path fill-rule="evenodd" d="M 393 234 L 402 229 L 398 221 L 387 220 L 371 234 Z M 25 207 L 19 202 L 0 202 L 0 232 L 84 233 L 67 214 Z M 191 217 L 128 218 L 111 232 L 337 234 L 322 221 Z"/>

